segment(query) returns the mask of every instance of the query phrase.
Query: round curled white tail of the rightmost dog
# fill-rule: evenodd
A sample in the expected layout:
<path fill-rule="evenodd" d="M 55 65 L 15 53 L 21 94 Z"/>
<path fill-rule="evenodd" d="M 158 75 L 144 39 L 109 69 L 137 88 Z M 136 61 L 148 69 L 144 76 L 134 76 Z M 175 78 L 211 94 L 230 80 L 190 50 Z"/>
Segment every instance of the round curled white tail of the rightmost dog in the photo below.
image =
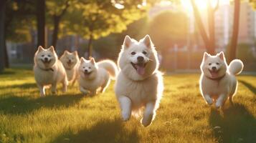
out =
<path fill-rule="evenodd" d="M 244 64 L 240 59 L 234 59 L 229 64 L 229 73 L 233 75 L 240 74 L 242 69 L 244 68 Z"/>

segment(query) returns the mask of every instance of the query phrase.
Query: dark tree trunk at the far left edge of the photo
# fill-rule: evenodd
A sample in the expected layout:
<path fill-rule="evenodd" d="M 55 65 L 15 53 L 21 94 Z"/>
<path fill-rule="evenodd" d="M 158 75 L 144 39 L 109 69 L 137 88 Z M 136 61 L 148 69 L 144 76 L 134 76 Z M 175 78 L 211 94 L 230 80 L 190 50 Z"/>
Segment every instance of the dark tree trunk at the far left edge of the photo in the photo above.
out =
<path fill-rule="evenodd" d="M 0 1 L 0 73 L 4 71 L 4 19 L 6 1 Z"/>

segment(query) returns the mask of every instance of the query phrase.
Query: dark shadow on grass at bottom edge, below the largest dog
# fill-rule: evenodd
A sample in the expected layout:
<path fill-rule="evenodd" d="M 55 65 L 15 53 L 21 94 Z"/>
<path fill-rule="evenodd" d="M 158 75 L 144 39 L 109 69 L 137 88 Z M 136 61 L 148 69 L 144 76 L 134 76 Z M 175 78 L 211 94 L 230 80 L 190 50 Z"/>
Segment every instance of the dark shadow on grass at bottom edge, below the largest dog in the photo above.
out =
<path fill-rule="evenodd" d="M 120 119 L 113 121 L 103 120 L 89 129 L 84 129 L 76 134 L 67 132 L 57 137 L 52 143 L 59 142 L 139 142 L 137 129 L 127 130 Z"/>

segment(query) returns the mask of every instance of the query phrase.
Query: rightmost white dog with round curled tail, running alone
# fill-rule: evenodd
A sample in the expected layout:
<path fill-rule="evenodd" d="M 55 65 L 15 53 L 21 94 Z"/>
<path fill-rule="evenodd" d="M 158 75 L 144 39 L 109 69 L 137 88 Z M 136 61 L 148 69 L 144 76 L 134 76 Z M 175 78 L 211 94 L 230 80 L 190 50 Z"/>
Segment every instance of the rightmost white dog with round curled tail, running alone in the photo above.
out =
<path fill-rule="evenodd" d="M 217 108 L 222 107 L 227 99 L 232 104 L 232 97 L 237 92 L 237 79 L 243 69 L 242 61 L 234 59 L 229 66 L 223 52 L 216 56 L 204 53 L 201 64 L 200 91 L 207 104 L 213 104 Z"/>

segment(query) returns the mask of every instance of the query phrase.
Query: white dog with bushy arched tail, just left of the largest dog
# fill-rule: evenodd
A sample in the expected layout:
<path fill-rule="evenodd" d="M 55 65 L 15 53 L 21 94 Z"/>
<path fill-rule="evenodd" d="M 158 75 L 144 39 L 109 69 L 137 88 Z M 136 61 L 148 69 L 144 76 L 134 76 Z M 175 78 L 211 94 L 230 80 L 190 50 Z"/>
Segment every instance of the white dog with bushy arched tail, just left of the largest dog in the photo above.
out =
<path fill-rule="evenodd" d="M 85 60 L 80 59 L 79 66 L 79 84 L 80 91 L 83 94 L 95 95 L 100 89 L 100 92 L 105 92 L 110 84 L 110 78 L 115 79 L 118 74 L 118 67 L 114 61 L 103 60 L 98 63 L 95 59 Z"/>

